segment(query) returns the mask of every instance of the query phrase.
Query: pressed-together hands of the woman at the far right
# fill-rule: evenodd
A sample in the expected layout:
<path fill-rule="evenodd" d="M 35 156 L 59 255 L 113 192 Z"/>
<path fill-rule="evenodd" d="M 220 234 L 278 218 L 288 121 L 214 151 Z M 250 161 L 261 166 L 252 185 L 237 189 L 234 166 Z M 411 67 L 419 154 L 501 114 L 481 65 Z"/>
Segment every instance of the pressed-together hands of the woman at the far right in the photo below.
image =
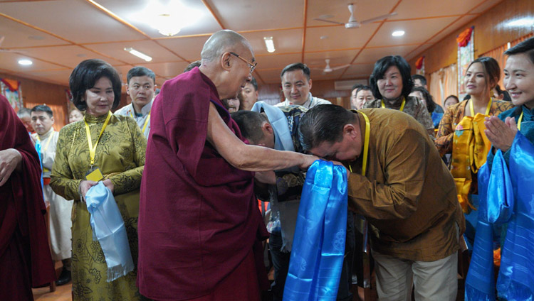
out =
<path fill-rule="evenodd" d="M 515 133 L 518 132 L 515 119 L 506 117 L 503 122 L 497 116 L 489 116 L 486 117 L 484 125 L 486 126 L 484 133 L 486 133 L 488 140 L 494 148 L 500 149 L 503 152 L 511 148 Z"/>

